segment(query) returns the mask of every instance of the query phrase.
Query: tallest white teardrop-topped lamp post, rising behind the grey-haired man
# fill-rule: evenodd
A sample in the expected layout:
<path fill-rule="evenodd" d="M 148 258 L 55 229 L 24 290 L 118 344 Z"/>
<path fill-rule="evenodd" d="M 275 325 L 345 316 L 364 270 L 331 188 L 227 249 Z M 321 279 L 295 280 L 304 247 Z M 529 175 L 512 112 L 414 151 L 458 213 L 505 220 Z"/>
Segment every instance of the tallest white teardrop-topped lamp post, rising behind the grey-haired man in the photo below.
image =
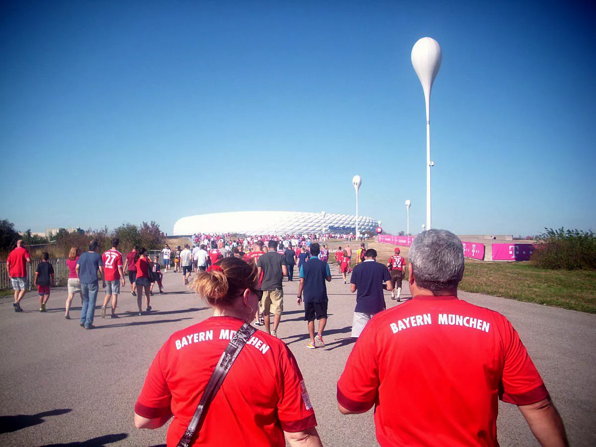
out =
<path fill-rule="evenodd" d="M 412 66 L 420 79 L 426 103 L 426 226 L 430 223 L 430 91 L 441 66 L 441 47 L 433 38 L 422 38 L 412 48 Z"/>

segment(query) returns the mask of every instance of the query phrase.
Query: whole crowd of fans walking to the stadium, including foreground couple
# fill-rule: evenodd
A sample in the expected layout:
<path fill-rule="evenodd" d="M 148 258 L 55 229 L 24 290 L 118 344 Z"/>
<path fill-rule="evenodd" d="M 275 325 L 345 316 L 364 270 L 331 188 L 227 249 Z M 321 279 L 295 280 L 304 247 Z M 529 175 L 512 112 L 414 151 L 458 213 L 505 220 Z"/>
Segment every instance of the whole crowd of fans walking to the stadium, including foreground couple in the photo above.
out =
<path fill-rule="evenodd" d="M 168 446 L 322 445 L 305 380 L 278 332 L 284 278 L 293 281 L 297 268 L 296 300 L 304 305 L 306 347 L 325 346 L 327 283 L 332 281 L 327 245 L 309 237 L 294 246 L 292 238 L 283 237 L 264 244 L 257 238 L 200 236 L 193 247 L 164 247 L 162 262 L 159 256 L 150 259 L 142 247 L 124 257 L 117 239 L 101 255 L 97 241 L 85 253 L 73 247 L 66 318 L 74 294 L 80 293 L 80 325 L 94 327 L 100 277 L 105 289 L 101 316 L 111 303 L 111 316 L 117 318 L 117 297 L 127 274 L 139 315 L 142 296 L 145 312 L 151 311 L 152 284 L 161 280 L 161 266 L 167 270 L 173 260 L 184 285 L 212 306 L 213 316 L 163 344 L 135 403 L 136 427 L 157 429 L 173 418 Z M 364 243 L 355 262 L 352 254 L 346 244 L 334 256 L 344 284 L 351 270 L 350 291 L 356 294 L 351 334 L 356 343 L 337 383 L 342 414 L 374 406 L 377 440 L 383 446 L 498 445 L 501 399 L 518 406 L 541 445 L 568 445 L 560 415 L 511 323 L 458 298 L 464 253 L 457 236 L 423 231 L 407 261 L 396 247 L 387 265 L 377 262 L 377 252 Z M 17 312 L 27 262 L 29 253 L 18 243 L 7 261 Z M 36 272 L 40 311 L 52 281 L 45 264 Z M 384 290 L 400 299 L 406 273 L 412 298 L 386 309 Z"/>

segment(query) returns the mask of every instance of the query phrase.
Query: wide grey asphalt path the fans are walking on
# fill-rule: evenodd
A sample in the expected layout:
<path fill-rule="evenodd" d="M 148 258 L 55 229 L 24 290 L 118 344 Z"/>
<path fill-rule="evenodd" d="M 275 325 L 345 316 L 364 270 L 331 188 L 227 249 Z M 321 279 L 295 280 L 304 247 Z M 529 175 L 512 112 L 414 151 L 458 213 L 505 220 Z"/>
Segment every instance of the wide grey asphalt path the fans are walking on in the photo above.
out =
<path fill-rule="evenodd" d="M 324 445 L 377 445 L 372 411 L 350 416 L 337 411 L 336 383 L 353 347 L 355 296 L 334 266 L 332 273 L 327 346 L 306 348 L 296 279 L 284 283 L 285 310 L 278 336 L 305 376 Z M 52 290 L 47 313 L 38 311 L 33 293 L 21 302 L 21 313 L 13 311 L 11 297 L 0 299 L 0 445 L 164 445 L 167 427 L 135 429 L 136 397 L 167 337 L 212 313 L 184 287 L 181 274 L 167 272 L 164 285 L 166 294 L 151 297 L 153 311 L 138 316 L 136 298 L 127 284 L 119 298 L 122 318 L 102 319 L 97 308 L 94 330 L 79 327 L 78 297 L 73 301 L 73 319 L 64 319 L 64 288 Z M 404 285 L 402 296 L 409 297 Z M 100 292 L 98 302 L 103 297 Z M 460 298 L 495 309 L 513 322 L 563 417 L 571 445 L 596 445 L 596 315 L 482 294 L 462 292 Z M 388 307 L 399 305 L 389 293 L 386 302 Z M 408 402 L 399 402 L 396 396 L 396 405 Z M 517 408 L 504 403 L 499 406 L 498 437 L 503 446 L 538 445 Z"/>

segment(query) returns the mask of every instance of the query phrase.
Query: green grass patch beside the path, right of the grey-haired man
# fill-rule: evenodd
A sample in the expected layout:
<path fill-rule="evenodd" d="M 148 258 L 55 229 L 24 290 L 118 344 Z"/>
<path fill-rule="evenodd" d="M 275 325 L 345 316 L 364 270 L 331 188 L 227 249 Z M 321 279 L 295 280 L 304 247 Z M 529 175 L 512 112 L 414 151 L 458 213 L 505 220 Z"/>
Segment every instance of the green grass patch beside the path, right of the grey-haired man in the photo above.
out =
<path fill-rule="evenodd" d="M 529 262 L 466 260 L 461 290 L 596 313 L 596 271 L 545 270 Z"/>

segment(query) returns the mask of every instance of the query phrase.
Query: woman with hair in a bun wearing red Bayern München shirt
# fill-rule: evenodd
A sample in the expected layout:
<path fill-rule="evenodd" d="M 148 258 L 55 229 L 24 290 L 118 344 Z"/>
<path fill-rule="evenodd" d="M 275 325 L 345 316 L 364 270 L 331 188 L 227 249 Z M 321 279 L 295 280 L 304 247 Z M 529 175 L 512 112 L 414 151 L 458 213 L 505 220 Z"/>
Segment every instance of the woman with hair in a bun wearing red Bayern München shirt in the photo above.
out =
<path fill-rule="evenodd" d="M 253 321 L 262 296 L 256 266 L 237 257 L 210 266 L 193 288 L 212 306 L 213 316 L 163 344 L 134 408 L 139 429 L 158 429 L 173 417 L 168 447 L 178 445 L 222 353 L 233 334 Z M 283 447 L 286 441 L 291 447 L 321 446 L 296 359 L 284 342 L 258 330 L 235 358 L 201 420 L 191 446 Z"/>

